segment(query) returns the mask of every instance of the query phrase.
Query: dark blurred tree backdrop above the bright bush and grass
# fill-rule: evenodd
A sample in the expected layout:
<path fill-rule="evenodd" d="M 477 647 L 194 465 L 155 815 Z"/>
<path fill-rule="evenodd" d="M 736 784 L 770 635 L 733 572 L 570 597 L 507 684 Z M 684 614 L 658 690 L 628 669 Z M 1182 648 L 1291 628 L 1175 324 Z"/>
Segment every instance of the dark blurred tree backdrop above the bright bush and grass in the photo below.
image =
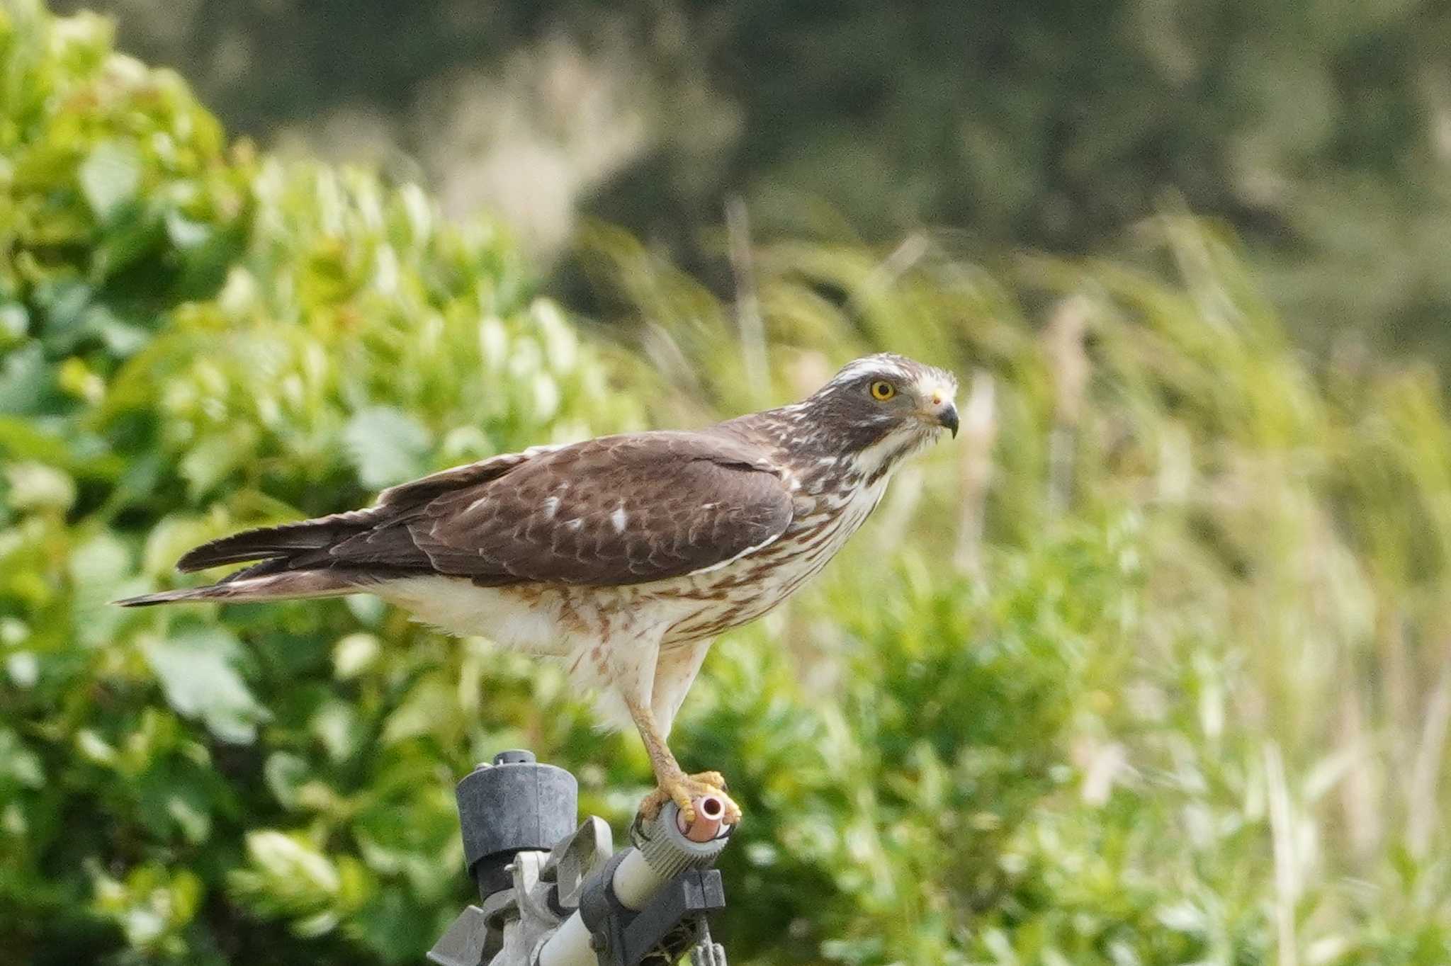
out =
<path fill-rule="evenodd" d="M 1451 363 L 1451 9 L 1434 0 L 58 0 L 228 129 L 434 186 L 535 252 L 601 216 L 718 283 L 763 236 L 975 261 L 1235 228 L 1307 345 Z"/>

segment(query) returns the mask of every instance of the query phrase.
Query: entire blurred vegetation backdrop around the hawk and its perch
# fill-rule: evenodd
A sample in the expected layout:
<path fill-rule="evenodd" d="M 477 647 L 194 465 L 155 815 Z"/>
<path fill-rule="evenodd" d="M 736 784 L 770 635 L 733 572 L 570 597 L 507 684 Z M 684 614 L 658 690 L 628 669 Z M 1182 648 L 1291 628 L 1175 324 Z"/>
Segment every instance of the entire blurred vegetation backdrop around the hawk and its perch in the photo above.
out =
<path fill-rule="evenodd" d="M 115 13 L 202 100 L 0 6 L 0 962 L 418 962 L 501 747 L 622 824 L 485 638 L 106 602 L 872 348 L 963 432 L 686 702 L 733 960 L 1451 960 L 1441 7 Z"/>

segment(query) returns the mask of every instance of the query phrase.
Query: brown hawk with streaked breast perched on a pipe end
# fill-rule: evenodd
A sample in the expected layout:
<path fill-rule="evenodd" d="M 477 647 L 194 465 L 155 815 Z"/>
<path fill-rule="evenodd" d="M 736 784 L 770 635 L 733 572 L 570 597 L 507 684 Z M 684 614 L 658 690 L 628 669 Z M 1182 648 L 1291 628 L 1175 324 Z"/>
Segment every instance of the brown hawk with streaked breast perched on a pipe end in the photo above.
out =
<path fill-rule="evenodd" d="M 367 509 L 225 537 L 177 566 L 251 566 L 120 603 L 376 593 L 453 634 L 560 659 L 608 718 L 640 730 L 659 782 L 643 809 L 670 798 L 691 817 L 698 795 L 726 798 L 723 782 L 685 775 L 666 735 L 711 640 L 826 566 L 903 458 L 956 434 L 955 392 L 939 368 L 868 355 L 779 409 L 498 455 Z"/>

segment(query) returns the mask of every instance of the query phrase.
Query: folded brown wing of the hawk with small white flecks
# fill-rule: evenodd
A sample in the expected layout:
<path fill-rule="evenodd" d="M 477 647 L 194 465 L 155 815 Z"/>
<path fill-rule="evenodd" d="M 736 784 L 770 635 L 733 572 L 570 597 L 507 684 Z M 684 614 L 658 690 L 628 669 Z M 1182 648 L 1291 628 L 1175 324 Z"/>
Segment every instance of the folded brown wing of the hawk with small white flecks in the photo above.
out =
<path fill-rule="evenodd" d="M 646 432 L 445 470 L 385 492 L 369 511 L 238 535 L 221 550 L 238 560 L 247 545 L 286 547 L 242 573 L 348 567 L 482 585 L 625 585 L 724 563 L 789 522 L 791 496 L 752 447 Z M 273 554 L 245 558 L 261 556 Z"/>

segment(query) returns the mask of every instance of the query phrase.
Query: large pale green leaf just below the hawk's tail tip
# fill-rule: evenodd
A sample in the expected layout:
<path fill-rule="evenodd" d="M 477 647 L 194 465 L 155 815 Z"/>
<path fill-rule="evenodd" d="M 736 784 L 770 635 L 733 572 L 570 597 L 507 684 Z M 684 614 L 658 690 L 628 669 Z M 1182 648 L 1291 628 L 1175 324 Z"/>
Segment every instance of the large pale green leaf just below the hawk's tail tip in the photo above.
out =
<path fill-rule="evenodd" d="M 237 638 L 219 627 L 142 643 L 147 663 L 177 714 L 200 718 L 222 741 L 251 744 L 257 725 L 270 715 L 237 673 L 239 651 Z"/>

